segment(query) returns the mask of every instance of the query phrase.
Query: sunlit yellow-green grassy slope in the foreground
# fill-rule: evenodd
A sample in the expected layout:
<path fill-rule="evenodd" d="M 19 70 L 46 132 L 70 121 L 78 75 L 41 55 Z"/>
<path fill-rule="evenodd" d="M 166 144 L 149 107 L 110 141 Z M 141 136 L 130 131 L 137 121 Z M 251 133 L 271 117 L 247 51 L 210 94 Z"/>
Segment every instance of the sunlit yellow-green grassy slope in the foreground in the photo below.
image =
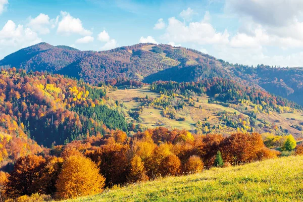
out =
<path fill-rule="evenodd" d="M 303 157 L 138 183 L 66 201 L 302 201 Z"/>

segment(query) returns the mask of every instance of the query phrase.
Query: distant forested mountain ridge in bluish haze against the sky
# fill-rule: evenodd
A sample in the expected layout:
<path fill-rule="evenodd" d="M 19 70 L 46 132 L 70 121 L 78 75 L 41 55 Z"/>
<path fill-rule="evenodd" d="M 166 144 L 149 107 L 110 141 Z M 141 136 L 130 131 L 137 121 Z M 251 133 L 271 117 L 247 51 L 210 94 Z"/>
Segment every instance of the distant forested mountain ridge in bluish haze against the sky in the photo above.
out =
<path fill-rule="evenodd" d="M 0 66 L 7 65 L 82 78 L 91 84 L 125 78 L 151 83 L 157 80 L 195 82 L 220 77 L 260 86 L 303 105 L 302 68 L 234 65 L 193 49 L 165 44 L 140 43 L 93 52 L 39 43 L 0 61 Z"/>

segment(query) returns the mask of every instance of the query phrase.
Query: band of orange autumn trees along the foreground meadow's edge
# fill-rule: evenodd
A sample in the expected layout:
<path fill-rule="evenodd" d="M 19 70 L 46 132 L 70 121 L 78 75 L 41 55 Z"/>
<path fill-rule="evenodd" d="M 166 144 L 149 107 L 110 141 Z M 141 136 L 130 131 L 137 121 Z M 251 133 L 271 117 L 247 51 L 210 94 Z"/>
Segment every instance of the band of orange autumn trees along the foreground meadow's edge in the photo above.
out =
<path fill-rule="evenodd" d="M 296 147 L 292 136 L 283 150 Z M 302 153 L 302 146 L 296 147 Z M 66 145 L 43 148 L 19 158 L 13 171 L 1 172 L 2 198 L 74 198 L 102 192 L 107 187 L 187 175 L 210 167 L 228 167 L 277 158 L 281 153 L 264 145 L 258 133 L 195 135 L 163 127 L 129 137 L 105 128 Z M 35 194 L 39 195 L 35 195 Z"/>

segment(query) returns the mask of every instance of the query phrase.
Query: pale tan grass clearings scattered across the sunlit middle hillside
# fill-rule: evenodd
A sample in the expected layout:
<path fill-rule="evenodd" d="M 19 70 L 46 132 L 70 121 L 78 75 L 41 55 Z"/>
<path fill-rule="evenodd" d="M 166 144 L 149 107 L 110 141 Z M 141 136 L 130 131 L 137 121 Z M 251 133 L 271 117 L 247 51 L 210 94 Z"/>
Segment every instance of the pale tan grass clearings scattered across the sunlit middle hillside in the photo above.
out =
<path fill-rule="evenodd" d="M 144 103 L 137 100 L 138 97 L 145 97 L 146 95 L 151 98 L 160 97 L 159 93 L 151 92 L 149 86 L 144 86 L 142 88 L 129 88 L 129 86 L 122 86 L 121 89 L 109 92 L 108 95 L 113 100 L 118 100 L 119 103 L 123 103 L 125 106 L 125 117 L 128 122 L 136 122 L 136 120 L 131 117 L 130 112 L 138 111 Z M 184 109 L 176 110 L 177 118 L 185 118 L 185 121 L 178 121 L 176 119 L 169 119 L 162 116 L 161 110 L 155 109 L 154 107 L 144 107 L 139 118 L 142 120 L 137 122 L 138 125 L 143 128 L 155 128 L 158 126 L 167 127 L 170 129 L 185 129 L 193 130 L 195 129 L 195 123 L 200 120 L 205 120 L 211 124 L 211 126 L 217 126 L 220 124 L 220 117 L 217 115 L 218 112 L 229 112 L 235 113 L 232 115 L 234 117 L 241 114 L 244 117 L 247 115 L 241 113 L 239 106 L 237 105 L 225 105 L 222 103 L 210 104 L 208 103 L 208 96 L 194 96 L 194 100 L 198 98 L 199 102 L 194 102 L 194 107 L 186 106 Z M 175 98 L 180 99 L 180 98 Z M 199 107 L 201 106 L 201 109 Z M 228 107 L 230 106 L 230 107 Z M 242 106 L 244 109 L 247 106 Z M 250 107 L 248 106 L 250 109 Z M 291 127 L 292 125 L 300 125 L 303 122 L 303 116 L 301 114 L 292 114 L 292 113 L 276 113 L 271 112 L 270 114 L 259 113 L 257 114 L 258 119 L 262 119 L 268 124 L 275 124 L 278 127 L 287 129 L 287 131 L 296 138 L 302 138 L 302 134 L 299 130 Z M 291 119 L 293 118 L 293 119 Z M 259 124 L 260 121 L 257 121 L 256 124 Z M 217 131 L 223 134 L 229 134 L 235 132 L 236 128 L 227 127 L 224 130 Z M 256 129 L 256 132 L 264 133 L 269 132 L 269 130 L 260 130 Z"/>

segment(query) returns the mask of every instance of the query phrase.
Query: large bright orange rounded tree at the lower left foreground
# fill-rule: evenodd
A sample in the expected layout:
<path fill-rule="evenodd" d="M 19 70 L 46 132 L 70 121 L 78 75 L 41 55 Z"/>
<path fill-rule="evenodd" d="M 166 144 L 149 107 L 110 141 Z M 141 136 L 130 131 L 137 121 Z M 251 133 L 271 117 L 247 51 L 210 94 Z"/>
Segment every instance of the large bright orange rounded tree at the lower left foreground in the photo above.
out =
<path fill-rule="evenodd" d="M 63 164 L 57 180 L 57 196 L 75 198 L 79 195 L 100 193 L 105 178 L 99 174 L 97 166 L 83 156 L 69 157 Z"/>

